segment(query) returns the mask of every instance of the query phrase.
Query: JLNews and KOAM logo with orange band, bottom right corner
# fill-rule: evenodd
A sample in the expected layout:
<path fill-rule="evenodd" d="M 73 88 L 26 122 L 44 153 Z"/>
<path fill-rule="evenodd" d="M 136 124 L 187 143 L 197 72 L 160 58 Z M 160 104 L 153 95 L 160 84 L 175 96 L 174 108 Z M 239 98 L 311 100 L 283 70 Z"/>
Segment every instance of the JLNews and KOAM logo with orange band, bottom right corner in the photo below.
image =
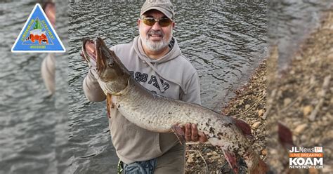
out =
<path fill-rule="evenodd" d="M 289 168 L 323 168 L 322 147 L 292 147 Z"/>

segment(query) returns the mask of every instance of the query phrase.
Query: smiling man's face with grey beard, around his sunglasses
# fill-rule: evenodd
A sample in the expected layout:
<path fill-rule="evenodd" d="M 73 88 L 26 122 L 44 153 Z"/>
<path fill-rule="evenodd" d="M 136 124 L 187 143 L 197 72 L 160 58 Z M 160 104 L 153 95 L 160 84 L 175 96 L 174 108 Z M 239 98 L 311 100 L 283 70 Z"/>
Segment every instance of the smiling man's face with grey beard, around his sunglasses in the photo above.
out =
<path fill-rule="evenodd" d="M 152 10 L 146 12 L 143 16 L 155 18 L 157 20 L 161 18 L 166 18 L 166 16 L 160 11 Z M 140 32 L 140 37 L 145 48 L 150 51 L 162 51 L 172 38 L 172 29 L 174 28 L 174 22 L 171 25 L 162 27 L 159 22 L 155 22 L 154 25 L 145 25 L 141 19 L 138 20 L 138 27 Z"/>

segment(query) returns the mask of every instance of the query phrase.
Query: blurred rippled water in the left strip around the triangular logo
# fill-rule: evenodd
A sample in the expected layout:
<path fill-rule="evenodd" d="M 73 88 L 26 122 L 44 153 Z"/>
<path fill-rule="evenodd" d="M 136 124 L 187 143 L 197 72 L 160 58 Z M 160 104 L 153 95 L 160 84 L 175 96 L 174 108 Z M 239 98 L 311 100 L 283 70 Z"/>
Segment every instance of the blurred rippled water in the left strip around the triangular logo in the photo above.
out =
<path fill-rule="evenodd" d="M 67 143 L 67 54 L 56 54 L 57 92 L 47 98 L 41 79 L 46 53 L 11 53 L 35 2 L 0 3 L 0 173 L 56 173 L 67 168 L 58 149 Z M 67 45 L 67 4 L 58 3 L 56 31 Z M 65 60 L 65 61 L 64 61 Z M 65 95 L 63 95 L 65 94 Z M 65 130 L 65 129 L 62 129 Z M 56 152 L 60 152 L 57 154 Z"/>

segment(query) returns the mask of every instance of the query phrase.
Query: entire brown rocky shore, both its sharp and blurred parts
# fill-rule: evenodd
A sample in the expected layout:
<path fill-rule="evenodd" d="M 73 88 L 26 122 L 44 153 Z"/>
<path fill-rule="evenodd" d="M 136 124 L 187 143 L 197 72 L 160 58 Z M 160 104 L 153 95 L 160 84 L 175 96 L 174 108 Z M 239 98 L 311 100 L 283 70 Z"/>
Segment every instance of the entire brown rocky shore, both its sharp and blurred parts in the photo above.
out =
<path fill-rule="evenodd" d="M 249 123 L 253 147 L 271 173 L 332 173 L 333 11 L 325 13 L 320 27 L 303 41 L 282 73 L 276 71 L 276 50 L 270 47 L 268 60 L 235 91 L 236 97 L 221 112 Z M 289 128 L 297 147 L 323 147 L 324 168 L 289 169 L 289 153 L 278 139 L 278 123 Z M 233 173 L 226 170 L 228 164 L 220 149 L 188 143 L 185 173 Z"/>

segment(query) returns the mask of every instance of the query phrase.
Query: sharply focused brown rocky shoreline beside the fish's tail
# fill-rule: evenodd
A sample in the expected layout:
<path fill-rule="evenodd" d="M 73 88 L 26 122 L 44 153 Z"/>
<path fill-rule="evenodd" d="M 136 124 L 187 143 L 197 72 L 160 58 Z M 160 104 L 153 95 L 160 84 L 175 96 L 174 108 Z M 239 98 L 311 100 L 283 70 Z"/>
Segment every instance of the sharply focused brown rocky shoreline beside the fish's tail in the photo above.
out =
<path fill-rule="evenodd" d="M 221 113 L 249 123 L 254 135 L 250 140 L 252 147 L 265 160 L 266 59 L 256 67 L 249 81 L 233 93 L 235 97 L 227 102 Z M 228 172 L 230 167 L 221 149 L 210 144 L 186 143 L 185 173 L 220 173 L 222 170 Z"/>

